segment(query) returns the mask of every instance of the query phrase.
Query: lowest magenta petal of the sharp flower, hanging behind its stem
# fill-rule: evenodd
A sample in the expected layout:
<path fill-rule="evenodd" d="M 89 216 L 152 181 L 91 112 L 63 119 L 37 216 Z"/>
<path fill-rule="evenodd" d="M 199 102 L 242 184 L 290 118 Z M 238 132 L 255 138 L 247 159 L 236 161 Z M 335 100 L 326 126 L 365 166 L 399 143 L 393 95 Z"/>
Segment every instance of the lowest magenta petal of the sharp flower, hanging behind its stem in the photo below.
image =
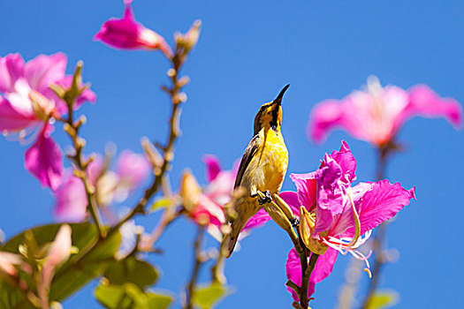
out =
<path fill-rule="evenodd" d="M 337 260 L 338 251 L 328 248 L 323 255 L 320 255 L 316 261 L 316 267 L 313 269 L 311 276 L 309 277 L 308 284 L 308 298 L 314 294 L 316 283 L 320 283 L 327 276 L 331 275 L 335 261 Z M 298 253 L 295 248 L 292 248 L 288 252 L 288 258 L 285 263 L 285 273 L 286 277 L 289 280 L 292 280 L 296 285 L 301 286 L 301 264 Z M 298 295 L 294 290 L 287 287 L 286 288 L 290 293 L 292 293 L 293 300 L 299 301 Z"/>

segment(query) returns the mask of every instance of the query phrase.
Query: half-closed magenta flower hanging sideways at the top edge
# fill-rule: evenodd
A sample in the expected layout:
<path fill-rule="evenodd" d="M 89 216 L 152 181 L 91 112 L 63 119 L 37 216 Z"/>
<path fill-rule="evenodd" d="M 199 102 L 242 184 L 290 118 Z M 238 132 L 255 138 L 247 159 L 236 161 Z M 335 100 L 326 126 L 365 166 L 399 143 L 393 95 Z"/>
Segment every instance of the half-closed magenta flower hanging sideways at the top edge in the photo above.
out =
<path fill-rule="evenodd" d="M 94 40 L 103 41 L 117 49 L 161 49 L 170 58 L 172 51 L 163 36 L 134 19 L 131 3 L 132 0 L 125 0 L 123 18 L 105 21 Z"/>

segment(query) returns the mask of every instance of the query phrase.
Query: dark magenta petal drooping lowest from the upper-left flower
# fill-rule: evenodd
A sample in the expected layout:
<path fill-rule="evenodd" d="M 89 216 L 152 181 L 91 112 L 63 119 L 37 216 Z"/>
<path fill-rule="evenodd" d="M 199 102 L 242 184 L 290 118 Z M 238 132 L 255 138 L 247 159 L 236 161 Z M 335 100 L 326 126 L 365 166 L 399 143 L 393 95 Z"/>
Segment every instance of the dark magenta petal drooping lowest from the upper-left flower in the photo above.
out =
<path fill-rule="evenodd" d="M 63 161 L 60 148 L 49 138 L 47 125 L 26 152 L 26 169 L 39 179 L 43 186 L 56 190 L 61 184 Z"/>

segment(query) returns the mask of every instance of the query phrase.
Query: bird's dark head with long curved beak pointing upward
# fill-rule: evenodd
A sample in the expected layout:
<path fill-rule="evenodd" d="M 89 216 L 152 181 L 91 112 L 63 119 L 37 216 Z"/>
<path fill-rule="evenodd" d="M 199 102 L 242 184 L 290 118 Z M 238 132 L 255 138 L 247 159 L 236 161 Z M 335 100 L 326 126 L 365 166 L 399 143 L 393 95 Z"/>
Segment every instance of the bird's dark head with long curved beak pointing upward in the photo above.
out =
<path fill-rule="evenodd" d="M 260 132 L 261 129 L 264 129 L 266 132 L 269 129 L 280 132 L 280 125 L 282 124 L 282 97 L 289 86 L 285 86 L 274 101 L 262 104 L 255 117 L 254 135 Z"/>

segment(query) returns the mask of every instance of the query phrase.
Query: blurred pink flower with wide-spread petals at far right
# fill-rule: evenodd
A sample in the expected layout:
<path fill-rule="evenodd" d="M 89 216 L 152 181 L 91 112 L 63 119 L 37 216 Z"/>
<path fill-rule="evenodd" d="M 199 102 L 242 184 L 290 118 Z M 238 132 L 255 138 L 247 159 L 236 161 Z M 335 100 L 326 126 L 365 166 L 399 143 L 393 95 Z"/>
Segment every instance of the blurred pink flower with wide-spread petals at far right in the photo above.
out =
<path fill-rule="evenodd" d="M 341 101 L 330 99 L 317 104 L 311 112 L 308 135 L 321 142 L 332 129 L 341 128 L 381 147 L 415 116 L 445 117 L 455 128 L 462 125 L 462 108 L 453 98 L 440 98 L 425 85 L 407 91 L 381 87 L 376 77 L 369 77 L 367 90 L 356 90 Z"/>

